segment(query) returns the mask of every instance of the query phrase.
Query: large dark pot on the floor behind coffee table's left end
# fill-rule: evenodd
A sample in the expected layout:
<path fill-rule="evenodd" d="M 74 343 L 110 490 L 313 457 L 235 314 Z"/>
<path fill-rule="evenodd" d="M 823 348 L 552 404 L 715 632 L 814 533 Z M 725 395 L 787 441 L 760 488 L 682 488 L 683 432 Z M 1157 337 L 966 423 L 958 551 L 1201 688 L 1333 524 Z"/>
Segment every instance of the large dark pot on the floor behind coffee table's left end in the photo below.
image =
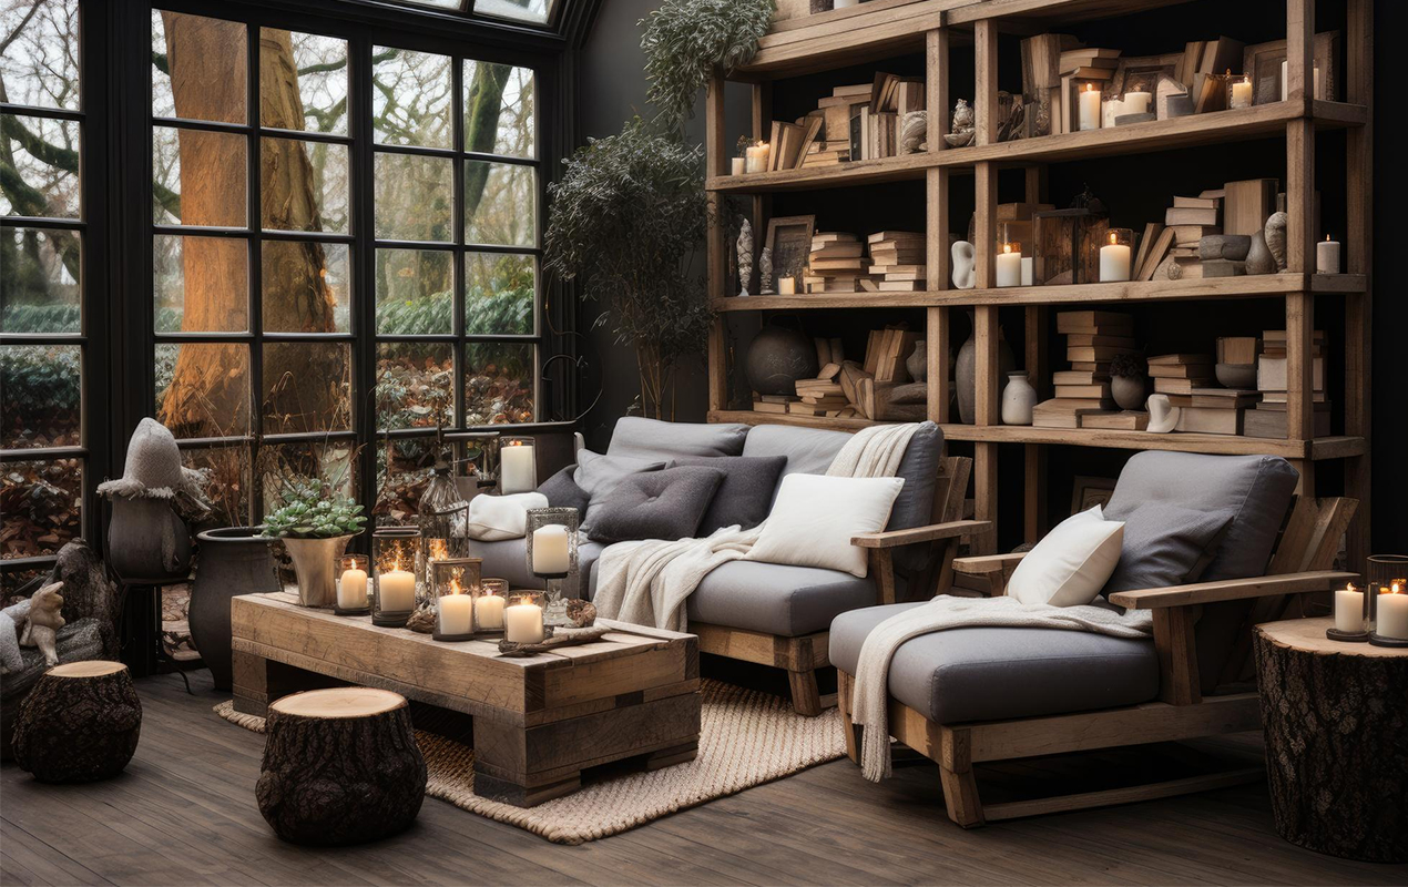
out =
<path fill-rule="evenodd" d="M 190 638 L 217 690 L 230 690 L 230 598 L 282 591 L 269 552 L 273 539 L 258 527 L 208 529 L 199 536 L 200 559 L 190 591 Z"/>

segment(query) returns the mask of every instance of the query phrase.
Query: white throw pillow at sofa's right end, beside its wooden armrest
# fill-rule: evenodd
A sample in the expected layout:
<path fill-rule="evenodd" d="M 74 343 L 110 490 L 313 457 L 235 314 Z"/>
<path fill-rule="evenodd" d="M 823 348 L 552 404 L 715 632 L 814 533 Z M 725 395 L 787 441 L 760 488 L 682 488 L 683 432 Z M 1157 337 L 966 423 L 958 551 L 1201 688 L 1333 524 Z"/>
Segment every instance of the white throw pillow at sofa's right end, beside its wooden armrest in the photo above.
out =
<path fill-rule="evenodd" d="M 901 477 L 788 474 L 748 559 L 826 567 L 863 579 L 866 549 L 852 545 L 850 536 L 884 529 L 903 486 Z"/>

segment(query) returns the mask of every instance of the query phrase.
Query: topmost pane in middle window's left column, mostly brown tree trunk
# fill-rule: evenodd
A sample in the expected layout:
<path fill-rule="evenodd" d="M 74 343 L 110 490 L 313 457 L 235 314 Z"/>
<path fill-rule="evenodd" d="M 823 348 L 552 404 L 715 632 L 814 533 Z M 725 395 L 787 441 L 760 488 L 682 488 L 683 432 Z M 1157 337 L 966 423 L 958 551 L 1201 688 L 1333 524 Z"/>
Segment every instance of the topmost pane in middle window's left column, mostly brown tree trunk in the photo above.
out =
<path fill-rule="evenodd" d="M 152 115 L 249 122 L 245 25 L 152 10 Z"/>

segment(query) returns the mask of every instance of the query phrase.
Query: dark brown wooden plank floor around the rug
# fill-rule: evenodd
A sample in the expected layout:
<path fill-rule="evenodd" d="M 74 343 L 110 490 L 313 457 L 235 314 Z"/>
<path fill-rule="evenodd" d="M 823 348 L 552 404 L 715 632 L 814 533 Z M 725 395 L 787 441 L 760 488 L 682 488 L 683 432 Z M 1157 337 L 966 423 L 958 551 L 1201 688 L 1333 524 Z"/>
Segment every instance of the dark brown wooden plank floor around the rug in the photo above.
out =
<path fill-rule="evenodd" d="M 1260 784 L 964 832 L 932 765 L 874 786 L 846 760 L 583 846 L 427 800 L 406 833 L 311 850 L 255 807 L 263 738 L 211 711 L 206 672 L 138 681 L 142 741 L 127 772 L 42 786 L 0 772 L 3 884 L 1404 884 L 1408 866 L 1319 856 L 1281 841 Z M 1245 753 L 1247 742 L 1219 753 Z M 1255 742 L 1252 750 L 1255 752 Z M 1156 750 L 1157 752 L 1157 750 Z M 1012 765 L 984 791 L 1177 766 L 1186 755 Z"/>

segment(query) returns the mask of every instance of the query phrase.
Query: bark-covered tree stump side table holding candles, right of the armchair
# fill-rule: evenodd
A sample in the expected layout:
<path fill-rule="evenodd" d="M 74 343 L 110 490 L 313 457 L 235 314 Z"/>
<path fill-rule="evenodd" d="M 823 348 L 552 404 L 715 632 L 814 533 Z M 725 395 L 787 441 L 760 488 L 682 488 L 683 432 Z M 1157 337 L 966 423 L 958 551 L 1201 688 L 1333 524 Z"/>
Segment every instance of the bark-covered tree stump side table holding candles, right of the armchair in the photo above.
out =
<path fill-rule="evenodd" d="M 1332 624 L 1253 631 L 1276 828 L 1321 853 L 1408 862 L 1408 649 L 1331 641 Z"/>

